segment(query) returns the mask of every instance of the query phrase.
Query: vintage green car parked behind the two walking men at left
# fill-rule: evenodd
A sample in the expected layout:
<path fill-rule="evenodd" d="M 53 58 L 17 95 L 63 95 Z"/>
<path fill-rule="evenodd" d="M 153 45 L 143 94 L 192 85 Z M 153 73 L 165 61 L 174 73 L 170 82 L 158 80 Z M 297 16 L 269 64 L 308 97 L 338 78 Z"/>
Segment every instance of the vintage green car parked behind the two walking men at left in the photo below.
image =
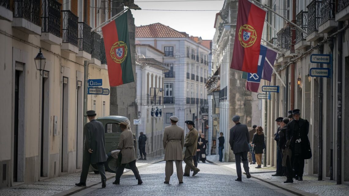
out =
<path fill-rule="evenodd" d="M 119 139 L 121 135 L 121 129 L 119 127 L 119 123 L 121 122 L 127 122 L 128 118 L 125 116 L 104 116 L 101 118 L 97 118 L 97 121 L 103 123 L 104 130 L 105 130 L 105 154 L 108 152 L 111 152 L 113 150 L 116 150 L 116 148 L 119 145 Z M 129 121 L 128 121 L 129 122 Z M 133 135 L 134 139 L 134 148 L 137 149 L 137 142 L 136 142 L 136 136 Z M 116 159 L 113 157 L 109 157 L 107 161 L 104 164 L 105 170 L 108 172 L 115 173 L 116 171 Z M 127 168 L 127 166 L 126 166 Z M 95 164 L 91 164 L 91 169 L 98 173 L 97 166 Z"/>

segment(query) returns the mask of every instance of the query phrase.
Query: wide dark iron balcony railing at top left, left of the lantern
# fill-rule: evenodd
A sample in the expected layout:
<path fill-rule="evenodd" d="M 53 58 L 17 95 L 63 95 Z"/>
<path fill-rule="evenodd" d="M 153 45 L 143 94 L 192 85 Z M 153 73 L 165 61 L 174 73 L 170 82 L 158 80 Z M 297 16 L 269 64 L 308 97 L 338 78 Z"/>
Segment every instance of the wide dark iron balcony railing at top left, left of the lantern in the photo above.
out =
<path fill-rule="evenodd" d="M 13 17 L 20 17 L 40 26 L 40 0 L 14 0 Z"/>

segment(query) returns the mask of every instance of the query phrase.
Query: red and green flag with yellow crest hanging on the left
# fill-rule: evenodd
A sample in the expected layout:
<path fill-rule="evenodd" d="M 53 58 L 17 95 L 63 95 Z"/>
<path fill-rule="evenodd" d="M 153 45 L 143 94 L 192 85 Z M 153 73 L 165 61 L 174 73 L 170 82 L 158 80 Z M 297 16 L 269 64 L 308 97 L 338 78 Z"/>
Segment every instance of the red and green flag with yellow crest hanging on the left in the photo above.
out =
<path fill-rule="evenodd" d="M 129 46 L 127 10 L 117 19 L 102 27 L 109 85 L 119 86 L 134 82 Z"/>

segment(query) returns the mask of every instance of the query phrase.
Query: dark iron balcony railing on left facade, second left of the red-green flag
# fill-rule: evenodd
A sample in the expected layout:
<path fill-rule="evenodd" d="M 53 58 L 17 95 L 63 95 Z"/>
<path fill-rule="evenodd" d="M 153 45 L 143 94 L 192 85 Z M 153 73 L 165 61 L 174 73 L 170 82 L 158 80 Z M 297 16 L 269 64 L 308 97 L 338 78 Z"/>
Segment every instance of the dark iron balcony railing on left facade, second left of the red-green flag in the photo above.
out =
<path fill-rule="evenodd" d="M 77 46 L 77 19 L 69 10 L 62 10 L 62 42 Z"/>

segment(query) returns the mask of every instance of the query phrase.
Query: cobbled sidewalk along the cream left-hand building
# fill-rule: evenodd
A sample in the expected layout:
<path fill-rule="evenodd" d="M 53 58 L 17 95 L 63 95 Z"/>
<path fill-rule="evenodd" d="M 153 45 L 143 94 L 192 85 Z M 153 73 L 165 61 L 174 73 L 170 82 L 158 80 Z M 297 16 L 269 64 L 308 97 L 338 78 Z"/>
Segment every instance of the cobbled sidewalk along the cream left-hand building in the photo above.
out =
<path fill-rule="evenodd" d="M 148 164 L 153 164 L 164 160 L 164 157 L 148 158 L 147 160 L 137 160 L 136 166 L 138 168 L 145 167 Z M 125 169 L 126 172 L 131 171 Z M 126 173 L 124 172 L 124 173 Z M 114 173 L 105 172 L 107 180 L 115 177 Z M 49 196 L 49 195 L 71 195 L 77 193 L 83 189 L 95 186 L 101 183 L 101 175 L 90 172 L 87 177 L 86 187 L 77 187 L 75 183 L 80 180 L 80 172 L 74 174 L 67 174 L 51 179 L 46 179 L 39 182 L 34 182 L 30 184 L 21 184 L 18 186 L 13 186 L 10 188 L 0 189 L 1 196 Z M 101 185 L 102 186 L 102 185 Z"/>

